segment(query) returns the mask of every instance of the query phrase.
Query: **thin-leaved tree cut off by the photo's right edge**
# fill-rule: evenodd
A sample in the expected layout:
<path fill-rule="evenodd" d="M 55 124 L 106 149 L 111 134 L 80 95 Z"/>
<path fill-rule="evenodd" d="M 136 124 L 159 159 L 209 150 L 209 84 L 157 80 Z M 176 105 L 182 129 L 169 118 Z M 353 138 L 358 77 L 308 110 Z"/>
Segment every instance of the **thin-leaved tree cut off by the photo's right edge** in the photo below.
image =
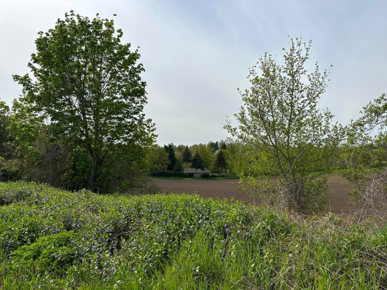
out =
<path fill-rule="evenodd" d="M 386 218 L 387 94 L 370 101 L 361 113 L 348 131 L 344 153 L 346 177 L 352 182 L 352 204 L 359 218 Z"/>

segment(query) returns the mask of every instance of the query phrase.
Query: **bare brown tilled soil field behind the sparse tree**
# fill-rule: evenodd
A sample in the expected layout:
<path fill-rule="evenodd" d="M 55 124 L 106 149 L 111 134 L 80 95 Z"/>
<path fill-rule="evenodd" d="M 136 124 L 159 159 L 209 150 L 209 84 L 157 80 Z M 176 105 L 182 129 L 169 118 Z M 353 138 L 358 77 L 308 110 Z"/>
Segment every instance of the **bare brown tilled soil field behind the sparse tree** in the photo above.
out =
<path fill-rule="evenodd" d="M 165 192 L 173 193 L 197 193 L 205 198 L 235 197 L 235 200 L 254 203 L 254 199 L 238 189 L 239 180 L 173 180 L 155 178 L 155 184 Z M 340 175 L 330 175 L 328 180 L 328 192 L 332 193 L 332 199 L 326 206 L 326 211 L 341 214 L 348 213 L 348 192 L 350 186 Z"/>

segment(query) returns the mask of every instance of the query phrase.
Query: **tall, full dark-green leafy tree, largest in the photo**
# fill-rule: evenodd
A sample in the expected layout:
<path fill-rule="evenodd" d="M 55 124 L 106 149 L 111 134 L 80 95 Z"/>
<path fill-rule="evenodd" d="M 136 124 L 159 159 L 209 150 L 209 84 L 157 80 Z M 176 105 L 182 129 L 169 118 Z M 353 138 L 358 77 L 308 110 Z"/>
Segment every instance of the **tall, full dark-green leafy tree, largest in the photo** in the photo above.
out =
<path fill-rule="evenodd" d="M 22 101 L 46 119 L 55 138 L 73 148 L 78 186 L 111 190 L 108 180 L 132 175 L 111 172 L 112 164 L 133 168 L 155 138 L 154 124 L 142 113 L 147 96 L 138 50 L 121 43 L 122 30 L 98 14 L 88 19 L 71 11 L 38 35 L 28 64 L 33 77 L 14 76 L 26 93 Z M 115 163 L 122 152 L 131 166 Z"/>

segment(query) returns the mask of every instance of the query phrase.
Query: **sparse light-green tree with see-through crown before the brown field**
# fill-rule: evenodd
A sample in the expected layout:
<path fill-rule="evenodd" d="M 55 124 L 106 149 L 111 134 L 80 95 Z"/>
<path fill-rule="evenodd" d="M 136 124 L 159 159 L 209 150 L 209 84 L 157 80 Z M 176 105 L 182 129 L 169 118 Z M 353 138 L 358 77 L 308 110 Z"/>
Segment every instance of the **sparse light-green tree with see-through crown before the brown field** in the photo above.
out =
<path fill-rule="evenodd" d="M 306 71 L 310 45 L 290 39 L 283 65 L 265 53 L 259 70 L 250 69 L 251 89 L 240 92 L 244 105 L 235 114 L 240 125 L 225 126 L 241 142 L 274 157 L 281 204 L 303 213 L 323 209 L 326 178 L 308 173 L 312 164 L 322 165 L 332 155 L 343 136 L 329 110 L 317 108 L 328 71 L 320 72 L 317 64 L 313 72 Z"/>

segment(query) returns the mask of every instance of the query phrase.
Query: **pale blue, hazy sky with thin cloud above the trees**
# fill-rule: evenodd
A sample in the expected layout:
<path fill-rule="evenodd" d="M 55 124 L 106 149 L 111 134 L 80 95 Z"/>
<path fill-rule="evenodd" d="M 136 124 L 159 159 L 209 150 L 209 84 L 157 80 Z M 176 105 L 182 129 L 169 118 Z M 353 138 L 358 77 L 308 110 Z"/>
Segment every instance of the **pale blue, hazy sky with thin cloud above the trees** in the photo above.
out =
<path fill-rule="evenodd" d="M 249 68 L 265 52 L 281 64 L 289 37 L 312 40 L 309 68 L 330 69 L 320 108 L 348 124 L 387 92 L 387 1 L 358 0 L 0 0 L 0 99 L 12 104 L 29 72 L 39 31 L 74 10 L 114 19 L 140 52 L 159 145 L 231 137 L 223 129 L 243 105 Z M 113 14 L 117 16 L 113 17 Z"/>

